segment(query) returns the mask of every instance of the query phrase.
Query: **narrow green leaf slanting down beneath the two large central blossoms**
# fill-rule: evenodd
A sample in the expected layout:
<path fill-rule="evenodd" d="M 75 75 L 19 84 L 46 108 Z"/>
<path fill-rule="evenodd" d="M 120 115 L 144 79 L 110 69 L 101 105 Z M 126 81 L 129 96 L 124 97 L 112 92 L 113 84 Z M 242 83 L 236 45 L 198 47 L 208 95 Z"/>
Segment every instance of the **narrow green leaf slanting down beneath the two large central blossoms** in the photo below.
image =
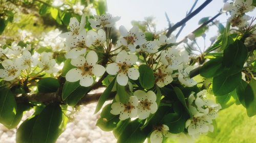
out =
<path fill-rule="evenodd" d="M 103 104 L 105 103 L 106 99 L 108 99 L 108 97 L 110 96 L 110 93 L 111 93 L 111 91 L 112 91 L 112 89 L 114 87 L 115 82 L 116 82 L 116 77 L 111 81 L 109 86 L 106 87 L 105 91 L 99 97 L 98 104 L 96 106 L 96 109 L 95 109 L 94 113 L 97 113 L 101 109 Z"/>

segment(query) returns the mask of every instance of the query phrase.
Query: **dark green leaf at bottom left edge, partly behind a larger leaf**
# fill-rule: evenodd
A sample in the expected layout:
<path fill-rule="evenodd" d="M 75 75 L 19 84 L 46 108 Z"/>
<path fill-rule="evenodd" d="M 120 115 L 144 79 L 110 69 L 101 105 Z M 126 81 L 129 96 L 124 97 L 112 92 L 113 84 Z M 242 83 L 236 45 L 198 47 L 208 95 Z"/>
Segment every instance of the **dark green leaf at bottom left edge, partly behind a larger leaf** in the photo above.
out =
<path fill-rule="evenodd" d="M 32 118 L 27 119 L 24 121 L 16 132 L 16 142 L 17 143 L 33 143 L 32 140 L 32 133 L 33 127 L 35 125 L 35 121 L 38 115 L 33 116 Z"/>

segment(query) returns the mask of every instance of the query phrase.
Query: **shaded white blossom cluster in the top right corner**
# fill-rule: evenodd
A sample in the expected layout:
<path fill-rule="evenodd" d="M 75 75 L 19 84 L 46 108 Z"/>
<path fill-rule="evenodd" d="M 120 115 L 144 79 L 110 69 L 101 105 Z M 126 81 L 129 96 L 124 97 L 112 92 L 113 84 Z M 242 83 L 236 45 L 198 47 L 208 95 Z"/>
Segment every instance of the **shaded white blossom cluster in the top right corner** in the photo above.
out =
<path fill-rule="evenodd" d="M 248 24 L 247 21 L 251 19 L 245 13 L 253 10 L 253 8 L 252 0 L 236 0 L 231 4 L 225 3 L 223 10 L 230 12 L 231 17 L 228 18 L 228 21 L 231 23 L 231 26 L 244 27 Z"/>

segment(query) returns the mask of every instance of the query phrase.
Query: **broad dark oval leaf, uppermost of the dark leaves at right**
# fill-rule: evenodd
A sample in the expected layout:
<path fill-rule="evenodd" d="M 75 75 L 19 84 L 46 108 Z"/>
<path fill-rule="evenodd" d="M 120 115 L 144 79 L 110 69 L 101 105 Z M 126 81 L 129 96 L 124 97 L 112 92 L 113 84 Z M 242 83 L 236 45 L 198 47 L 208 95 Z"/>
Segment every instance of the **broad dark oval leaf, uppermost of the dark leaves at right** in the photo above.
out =
<path fill-rule="evenodd" d="M 240 40 L 235 41 L 224 50 L 222 64 L 229 68 L 229 74 L 235 74 L 242 70 L 247 53 L 247 48 Z"/>

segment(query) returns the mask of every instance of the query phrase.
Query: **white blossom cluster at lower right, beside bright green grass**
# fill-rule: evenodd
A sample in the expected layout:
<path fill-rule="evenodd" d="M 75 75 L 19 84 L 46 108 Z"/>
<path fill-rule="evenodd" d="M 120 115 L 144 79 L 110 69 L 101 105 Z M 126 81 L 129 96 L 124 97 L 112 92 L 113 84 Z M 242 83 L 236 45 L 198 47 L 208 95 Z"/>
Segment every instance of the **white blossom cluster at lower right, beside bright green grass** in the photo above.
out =
<path fill-rule="evenodd" d="M 221 109 L 219 103 L 206 99 L 206 94 L 207 91 L 203 90 L 197 93 L 196 96 L 192 93 L 188 97 L 188 109 L 193 118 L 186 121 L 186 128 L 188 134 L 194 137 L 208 131 L 214 131 L 214 126 L 211 123 L 212 120 L 217 118 L 218 111 Z"/>

